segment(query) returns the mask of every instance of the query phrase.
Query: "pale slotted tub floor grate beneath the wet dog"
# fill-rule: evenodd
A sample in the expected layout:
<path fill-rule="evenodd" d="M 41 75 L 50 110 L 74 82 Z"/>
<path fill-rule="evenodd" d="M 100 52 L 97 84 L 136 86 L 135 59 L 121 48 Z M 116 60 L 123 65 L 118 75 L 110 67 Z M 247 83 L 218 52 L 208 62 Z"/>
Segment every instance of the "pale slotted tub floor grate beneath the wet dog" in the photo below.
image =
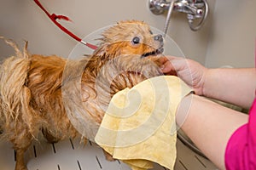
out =
<path fill-rule="evenodd" d="M 79 139 L 67 139 L 56 144 L 35 141 L 26 152 L 29 170 L 131 170 L 121 161 L 106 161 L 102 149 L 94 143 L 79 144 Z M 0 142 L 0 169 L 15 169 L 15 150 L 11 144 Z M 154 170 L 165 170 L 155 165 Z M 207 159 L 196 155 L 177 141 L 175 170 L 215 170 Z"/>

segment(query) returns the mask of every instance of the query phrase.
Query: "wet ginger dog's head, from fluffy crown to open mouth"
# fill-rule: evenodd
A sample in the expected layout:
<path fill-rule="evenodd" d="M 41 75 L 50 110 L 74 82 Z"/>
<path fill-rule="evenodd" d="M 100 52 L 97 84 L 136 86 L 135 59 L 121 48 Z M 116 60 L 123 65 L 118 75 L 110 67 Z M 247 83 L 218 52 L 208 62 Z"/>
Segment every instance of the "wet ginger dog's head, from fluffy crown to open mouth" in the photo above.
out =
<path fill-rule="evenodd" d="M 102 33 L 100 47 L 95 54 L 114 58 L 119 55 L 137 54 L 141 57 L 163 52 L 163 37 L 154 35 L 143 21 L 120 21 Z"/>

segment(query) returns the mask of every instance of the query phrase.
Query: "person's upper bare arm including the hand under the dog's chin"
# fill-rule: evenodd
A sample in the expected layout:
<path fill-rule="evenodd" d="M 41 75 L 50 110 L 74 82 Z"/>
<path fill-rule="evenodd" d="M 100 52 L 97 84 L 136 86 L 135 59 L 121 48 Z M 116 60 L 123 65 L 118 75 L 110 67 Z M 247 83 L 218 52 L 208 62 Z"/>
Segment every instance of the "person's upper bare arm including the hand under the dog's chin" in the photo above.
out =
<path fill-rule="evenodd" d="M 160 58 L 165 74 L 176 72 L 195 94 L 249 108 L 256 89 L 256 69 L 207 69 L 192 59 Z"/>

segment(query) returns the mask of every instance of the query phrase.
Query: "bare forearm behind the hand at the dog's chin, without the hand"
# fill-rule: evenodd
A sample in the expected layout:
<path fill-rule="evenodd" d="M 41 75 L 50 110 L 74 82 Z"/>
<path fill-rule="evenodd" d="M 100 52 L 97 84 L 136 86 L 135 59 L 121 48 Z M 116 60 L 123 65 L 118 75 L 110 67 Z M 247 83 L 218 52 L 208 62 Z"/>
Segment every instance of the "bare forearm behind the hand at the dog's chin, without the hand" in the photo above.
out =
<path fill-rule="evenodd" d="M 249 108 L 255 98 L 256 69 L 208 69 L 202 94 Z"/>

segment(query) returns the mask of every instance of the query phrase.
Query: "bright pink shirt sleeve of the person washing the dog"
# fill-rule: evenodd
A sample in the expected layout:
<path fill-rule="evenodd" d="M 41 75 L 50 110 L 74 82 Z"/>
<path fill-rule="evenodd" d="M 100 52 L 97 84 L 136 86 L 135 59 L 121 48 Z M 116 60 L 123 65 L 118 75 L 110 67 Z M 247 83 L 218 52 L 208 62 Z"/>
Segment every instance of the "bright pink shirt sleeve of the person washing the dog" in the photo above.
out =
<path fill-rule="evenodd" d="M 256 170 L 256 98 L 249 121 L 232 134 L 225 150 L 227 170 Z"/>

